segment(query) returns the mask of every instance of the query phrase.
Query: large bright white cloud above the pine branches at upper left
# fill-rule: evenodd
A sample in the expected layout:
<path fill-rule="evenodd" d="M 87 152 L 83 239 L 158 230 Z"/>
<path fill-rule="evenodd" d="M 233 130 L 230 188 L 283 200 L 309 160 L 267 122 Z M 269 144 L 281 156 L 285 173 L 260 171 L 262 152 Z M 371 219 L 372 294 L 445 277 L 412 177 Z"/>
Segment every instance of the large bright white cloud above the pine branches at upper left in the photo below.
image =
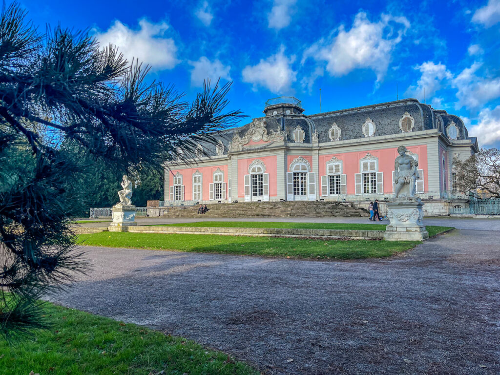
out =
<path fill-rule="evenodd" d="M 139 20 L 140 28 L 132 30 L 127 25 L 115 20 L 105 32 L 97 32 L 95 37 L 101 46 L 113 44 L 131 61 L 132 57 L 147 63 L 154 70 L 171 69 L 179 61 L 177 47 L 172 38 L 165 37 L 169 26 L 165 22 L 150 23 Z"/>

